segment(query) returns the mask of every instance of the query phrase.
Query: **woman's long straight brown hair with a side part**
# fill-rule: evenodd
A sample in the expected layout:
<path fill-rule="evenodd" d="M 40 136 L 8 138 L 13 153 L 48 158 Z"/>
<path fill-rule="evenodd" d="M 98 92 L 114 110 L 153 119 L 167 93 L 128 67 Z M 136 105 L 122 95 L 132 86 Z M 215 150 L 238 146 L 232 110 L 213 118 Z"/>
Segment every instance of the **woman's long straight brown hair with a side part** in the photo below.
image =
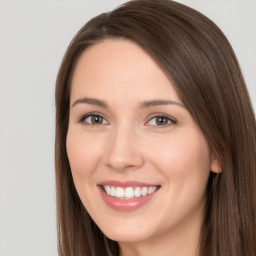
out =
<path fill-rule="evenodd" d="M 168 0 L 135 0 L 90 20 L 72 40 L 56 84 L 60 256 L 118 255 L 75 190 L 66 152 L 72 75 L 81 53 L 107 38 L 140 45 L 170 78 L 218 157 L 207 187 L 201 256 L 256 254 L 256 124 L 236 56 L 207 17 Z"/>

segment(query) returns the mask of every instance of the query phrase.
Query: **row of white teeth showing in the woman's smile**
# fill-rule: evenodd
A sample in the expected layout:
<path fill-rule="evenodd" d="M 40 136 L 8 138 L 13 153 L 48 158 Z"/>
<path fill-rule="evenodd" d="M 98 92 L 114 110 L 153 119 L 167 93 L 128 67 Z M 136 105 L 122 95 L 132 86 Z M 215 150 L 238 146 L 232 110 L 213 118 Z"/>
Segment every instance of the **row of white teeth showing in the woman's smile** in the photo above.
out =
<path fill-rule="evenodd" d="M 147 196 L 152 193 L 154 193 L 157 189 L 156 186 L 153 187 L 127 187 L 127 188 L 122 188 L 122 187 L 113 187 L 113 186 L 108 186 L 104 185 L 104 190 L 107 195 L 117 197 L 119 199 L 132 199 L 132 198 L 138 198 L 141 196 Z"/>

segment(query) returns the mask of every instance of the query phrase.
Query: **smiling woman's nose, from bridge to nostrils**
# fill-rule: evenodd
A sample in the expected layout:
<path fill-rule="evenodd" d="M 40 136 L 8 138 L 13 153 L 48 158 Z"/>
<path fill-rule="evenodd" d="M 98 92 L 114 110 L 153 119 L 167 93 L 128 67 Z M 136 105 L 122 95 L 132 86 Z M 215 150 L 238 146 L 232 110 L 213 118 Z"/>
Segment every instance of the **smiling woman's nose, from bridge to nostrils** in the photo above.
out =
<path fill-rule="evenodd" d="M 112 131 L 107 151 L 106 165 L 116 171 L 136 170 L 144 164 L 144 158 L 136 132 L 129 127 Z"/>

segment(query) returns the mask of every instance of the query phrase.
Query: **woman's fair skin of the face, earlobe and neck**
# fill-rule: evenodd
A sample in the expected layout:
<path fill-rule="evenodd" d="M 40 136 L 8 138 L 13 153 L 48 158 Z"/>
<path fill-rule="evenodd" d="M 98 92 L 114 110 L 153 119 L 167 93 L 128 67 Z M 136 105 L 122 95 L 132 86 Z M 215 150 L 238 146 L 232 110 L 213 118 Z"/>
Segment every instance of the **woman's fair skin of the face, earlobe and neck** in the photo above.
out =
<path fill-rule="evenodd" d="M 79 100 L 85 97 L 107 107 Z M 142 107 L 159 99 L 173 103 Z M 208 177 L 220 168 L 159 66 L 133 42 L 101 41 L 80 57 L 70 103 L 66 146 L 77 192 L 121 255 L 198 255 Z M 103 117 L 100 124 L 81 121 L 90 112 Z M 143 207 L 121 212 L 100 195 L 97 184 L 110 179 L 161 187 Z"/>

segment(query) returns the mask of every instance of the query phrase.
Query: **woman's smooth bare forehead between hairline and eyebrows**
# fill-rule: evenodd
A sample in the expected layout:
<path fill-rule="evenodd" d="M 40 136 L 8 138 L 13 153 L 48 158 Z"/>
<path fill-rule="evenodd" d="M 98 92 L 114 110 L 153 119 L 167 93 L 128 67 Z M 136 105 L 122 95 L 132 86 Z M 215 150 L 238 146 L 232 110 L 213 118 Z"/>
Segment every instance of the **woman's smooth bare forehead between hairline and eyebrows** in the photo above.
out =
<path fill-rule="evenodd" d="M 132 94 L 177 98 L 156 62 L 136 43 L 123 39 L 101 41 L 84 51 L 74 72 L 71 98 L 81 94 L 112 99 Z"/>

